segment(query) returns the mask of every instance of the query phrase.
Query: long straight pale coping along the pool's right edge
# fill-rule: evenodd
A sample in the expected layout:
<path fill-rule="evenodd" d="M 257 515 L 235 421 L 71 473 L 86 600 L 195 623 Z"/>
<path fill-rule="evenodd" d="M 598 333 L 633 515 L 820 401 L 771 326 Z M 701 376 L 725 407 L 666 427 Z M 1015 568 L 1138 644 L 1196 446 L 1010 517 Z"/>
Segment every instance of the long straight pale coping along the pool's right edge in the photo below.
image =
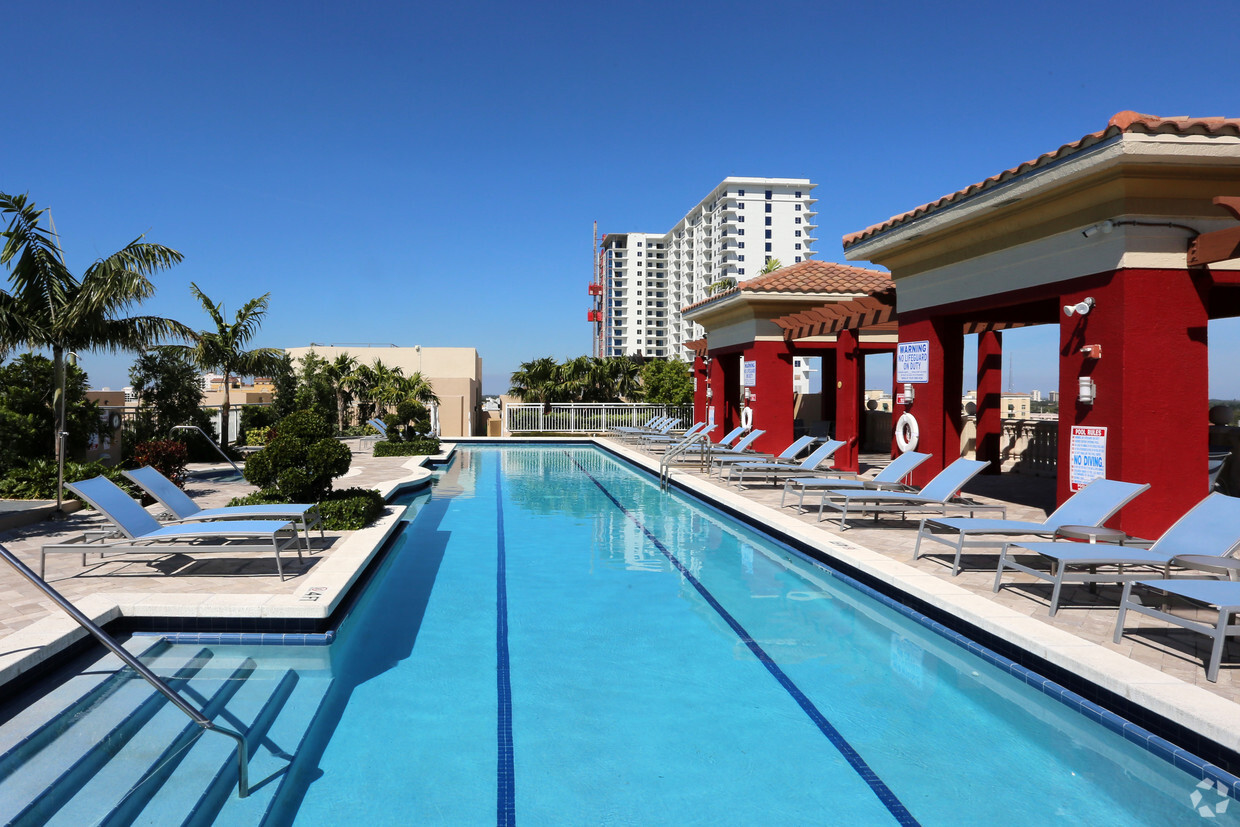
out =
<path fill-rule="evenodd" d="M 658 462 L 640 451 L 613 440 L 591 441 L 632 465 L 658 472 Z M 1022 615 L 887 554 L 802 523 L 770 506 L 749 500 L 743 493 L 688 474 L 673 474 L 672 484 L 727 512 L 742 515 L 745 522 L 756 528 L 770 529 L 776 537 L 786 537 L 795 544 L 816 549 L 828 562 L 837 560 L 913 600 L 934 606 L 961 624 L 1001 639 L 1152 715 L 1190 730 L 1224 750 L 1240 754 L 1240 704 L 1044 624 L 1037 617 Z"/>

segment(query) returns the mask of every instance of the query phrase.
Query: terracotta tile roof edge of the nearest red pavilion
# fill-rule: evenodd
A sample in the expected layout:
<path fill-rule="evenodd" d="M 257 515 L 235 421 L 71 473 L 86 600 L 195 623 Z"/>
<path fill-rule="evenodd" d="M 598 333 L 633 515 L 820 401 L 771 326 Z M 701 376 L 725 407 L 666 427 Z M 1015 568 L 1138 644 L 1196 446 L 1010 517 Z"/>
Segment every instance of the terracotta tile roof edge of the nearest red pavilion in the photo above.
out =
<path fill-rule="evenodd" d="M 1095 144 L 1100 144 L 1104 140 L 1123 133 L 1145 133 L 1147 135 L 1156 133 L 1184 135 L 1233 135 L 1240 138 L 1240 118 L 1159 118 L 1157 115 L 1143 115 L 1137 112 L 1120 112 L 1107 122 L 1106 129 L 1102 129 L 1101 131 L 1090 133 L 1080 140 L 1073 141 L 1071 144 L 1064 144 L 1053 153 L 1039 155 L 1032 161 L 1025 161 L 1024 164 L 1014 166 L 1011 170 L 1004 170 L 998 175 L 992 175 L 985 181 L 980 181 L 978 184 L 967 186 L 963 190 L 946 195 L 937 201 L 931 201 L 930 203 L 924 203 L 908 212 L 892 216 L 887 221 L 867 227 L 861 232 L 848 233 L 843 237 L 843 247 L 844 249 L 848 249 L 851 245 L 863 242 L 872 236 L 877 236 L 883 231 L 892 229 L 893 227 L 898 227 L 899 224 L 914 218 L 920 218 L 921 216 L 947 207 L 971 195 L 982 192 L 983 190 L 990 190 L 991 187 L 1003 184 L 1017 175 L 1045 166 L 1053 161 L 1058 161 L 1061 157 L 1079 153 L 1083 149 L 1089 149 Z"/>

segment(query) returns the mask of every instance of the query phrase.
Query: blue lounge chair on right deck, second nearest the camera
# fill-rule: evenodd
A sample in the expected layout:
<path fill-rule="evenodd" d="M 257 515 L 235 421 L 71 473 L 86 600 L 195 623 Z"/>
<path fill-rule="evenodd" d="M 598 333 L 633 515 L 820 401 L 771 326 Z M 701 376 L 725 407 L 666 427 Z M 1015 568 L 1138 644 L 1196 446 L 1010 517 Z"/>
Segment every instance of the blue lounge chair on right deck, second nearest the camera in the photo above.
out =
<path fill-rule="evenodd" d="M 1065 503 L 1066 505 L 1066 503 Z M 1065 583 L 1130 583 L 1149 578 L 1154 569 L 1168 577 L 1172 565 L 1208 569 L 1211 562 L 1226 564 L 1240 547 L 1240 500 L 1211 493 L 1176 521 L 1149 548 L 1115 543 L 1011 543 L 999 554 L 994 590 L 1003 586 L 1003 572 L 1024 572 L 1054 584 L 1050 615 L 1059 611 Z M 1021 563 L 1013 552 L 1037 554 L 1049 563 L 1035 568 Z M 1032 563 L 1033 560 L 1030 560 Z M 1101 572 L 1099 569 L 1102 569 Z M 1136 570 L 1133 570 L 1136 569 Z"/>

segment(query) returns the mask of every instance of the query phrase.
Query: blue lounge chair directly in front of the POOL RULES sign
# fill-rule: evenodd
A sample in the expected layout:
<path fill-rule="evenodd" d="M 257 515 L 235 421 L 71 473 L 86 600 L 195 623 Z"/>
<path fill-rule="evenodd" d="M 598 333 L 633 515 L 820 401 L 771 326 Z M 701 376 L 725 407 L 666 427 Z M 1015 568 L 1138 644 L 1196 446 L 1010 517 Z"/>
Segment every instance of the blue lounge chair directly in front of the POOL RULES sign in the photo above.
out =
<path fill-rule="evenodd" d="M 1068 497 L 1064 505 L 1042 522 L 1021 520 L 968 520 L 961 517 L 926 517 L 918 527 L 918 542 L 913 547 L 913 559 L 921 555 L 921 541 L 929 539 L 955 549 L 956 558 L 951 573 L 960 573 L 960 555 L 966 547 L 998 547 L 1006 543 L 1003 536 L 1040 534 L 1053 537 L 1060 526 L 1101 526 L 1115 513 L 1128 505 L 1133 497 L 1147 491 L 1148 485 L 1121 482 L 1118 480 L 1094 480 L 1084 489 Z M 952 537 L 935 534 L 935 529 L 950 532 Z M 971 539 L 990 536 L 991 539 Z M 998 536 L 999 539 L 993 539 Z"/>

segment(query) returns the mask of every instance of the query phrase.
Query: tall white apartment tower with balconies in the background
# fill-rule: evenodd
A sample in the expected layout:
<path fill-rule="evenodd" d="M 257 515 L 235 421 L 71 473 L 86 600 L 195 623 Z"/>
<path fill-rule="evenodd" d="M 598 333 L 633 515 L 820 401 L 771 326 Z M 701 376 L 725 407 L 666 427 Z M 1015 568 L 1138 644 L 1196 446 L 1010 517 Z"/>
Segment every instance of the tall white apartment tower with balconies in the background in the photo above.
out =
<path fill-rule="evenodd" d="M 702 327 L 681 307 L 758 275 L 766 262 L 813 257 L 817 186 L 808 179 L 724 179 L 663 234 L 608 233 L 590 295 L 599 356 L 687 358 Z"/>

